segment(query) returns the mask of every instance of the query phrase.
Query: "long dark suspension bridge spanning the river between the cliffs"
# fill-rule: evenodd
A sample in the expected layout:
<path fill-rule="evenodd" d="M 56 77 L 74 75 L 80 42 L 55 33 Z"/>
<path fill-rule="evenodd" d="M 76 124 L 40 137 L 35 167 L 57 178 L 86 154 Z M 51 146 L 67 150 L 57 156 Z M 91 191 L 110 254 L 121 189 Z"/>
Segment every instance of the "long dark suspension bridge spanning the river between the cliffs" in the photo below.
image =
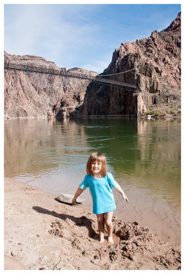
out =
<path fill-rule="evenodd" d="M 20 64 L 10 64 L 9 62 L 4 62 L 4 69 L 5 70 L 12 70 L 12 71 L 26 71 L 28 73 L 44 73 L 48 75 L 60 75 L 62 77 L 74 77 L 79 79 L 87 79 L 91 82 L 97 82 L 100 84 L 105 84 L 108 86 L 115 86 L 119 88 L 124 88 L 127 90 L 135 90 L 137 86 L 133 84 L 128 84 L 124 82 L 119 82 L 114 79 L 106 79 L 105 77 L 109 77 L 112 75 L 120 75 L 122 73 L 128 73 L 131 71 L 134 71 L 135 69 L 130 69 L 129 71 L 123 71 L 121 73 L 114 73 L 109 75 L 91 75 L 91 73 L 83 74 L 83 73 L 72 73 L 69 71 L 66 71 L 64 69 L 57 70 L 57 69 L 51 69 L 51 68 L 43 68 L 43 67 L 34 67 L 34 66 L 28 66 L 28 65 L 20 65 Z"/>

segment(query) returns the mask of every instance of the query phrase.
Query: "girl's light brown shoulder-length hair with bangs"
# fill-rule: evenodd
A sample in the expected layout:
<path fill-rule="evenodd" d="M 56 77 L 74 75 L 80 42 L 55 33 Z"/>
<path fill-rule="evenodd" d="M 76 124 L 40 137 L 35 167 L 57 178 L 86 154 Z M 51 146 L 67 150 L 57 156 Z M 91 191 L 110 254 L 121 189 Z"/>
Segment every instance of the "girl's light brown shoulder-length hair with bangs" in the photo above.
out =
<path fill-rule="evenodd" d="M 86 166 L 88 175 L 92 174 L 91 165 L 93 162 L 98 162 L 98 163 L 100 162 L 102 164 L 102 169 L 100 171 L 100 174 L 102 177 L 105 177 L 106 176 L 106 158 L 105 158 L 105 156 L 100 152 L 91 153 L 91 155 L 89 156 L 89 159 L 87 161 L 87 166 Z"/>

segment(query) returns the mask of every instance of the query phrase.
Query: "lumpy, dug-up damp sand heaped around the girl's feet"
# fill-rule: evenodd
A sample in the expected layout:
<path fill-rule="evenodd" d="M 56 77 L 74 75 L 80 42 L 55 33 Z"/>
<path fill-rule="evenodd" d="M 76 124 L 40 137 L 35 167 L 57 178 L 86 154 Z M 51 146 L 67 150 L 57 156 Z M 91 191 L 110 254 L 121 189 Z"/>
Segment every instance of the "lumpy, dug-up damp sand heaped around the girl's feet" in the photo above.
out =
<path fill-rule="evenodd" d="M 120 240 L 117 245 L 109 247 L 98 247 L 98 242 L 94 241 L 98 238 L 97 225 L 85 216 L 73 220 L 61 216 L 61 220 L 53 221 L 49 233 L 71 242 L 73 250 L 78 253 L 76 262 L 86 257 L 89 266 L 95 264 L 99 269 L 180 269 L 179 245 L 172 246 L 161 240 L 137 221 L 126 223 L 114 216 L 113 224 L 113 232 Z M 88 230 L 86 233 L 85 229 Z"/>

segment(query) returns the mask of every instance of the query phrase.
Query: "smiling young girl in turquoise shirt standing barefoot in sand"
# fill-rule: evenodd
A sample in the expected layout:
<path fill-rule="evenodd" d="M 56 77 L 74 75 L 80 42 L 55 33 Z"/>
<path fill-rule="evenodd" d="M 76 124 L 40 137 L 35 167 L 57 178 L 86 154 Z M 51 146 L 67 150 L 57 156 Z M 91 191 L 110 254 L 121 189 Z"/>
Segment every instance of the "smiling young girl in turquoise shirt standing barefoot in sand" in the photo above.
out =
<path fill-rule="evenodd" d="M 104 224 L 108 232 L 109 245 L 113 245 L 113 224 L 112 216 L 115 210 L 115 200 L 112 187 L 121 193 L 124 201 L 128 201 L 124 191 L 113 178 L 111 173 L 106 173 L 106 158 L 100 152 L 91 153 L 87 161 L 87 175 L 79 185 L 73 199 L 72 205 L 76 203 L 76 198 L 81 195 L 85 188 L 89 187 L 93 200 L 93 213 L 98 219 L 98 232 L 100 244 L 104 241 Z"/>

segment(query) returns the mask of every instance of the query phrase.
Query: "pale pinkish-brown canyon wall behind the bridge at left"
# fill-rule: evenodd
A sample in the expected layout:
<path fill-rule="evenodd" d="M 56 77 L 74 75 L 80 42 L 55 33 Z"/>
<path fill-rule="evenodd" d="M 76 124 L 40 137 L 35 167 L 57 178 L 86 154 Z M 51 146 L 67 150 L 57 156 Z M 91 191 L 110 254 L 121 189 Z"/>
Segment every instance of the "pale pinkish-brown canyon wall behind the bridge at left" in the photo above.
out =
<path fill-rule="evenodd" d="M 41 70 L 61 70 L 54 62 L 48 62 L 37 56 L 17 56 L 5 52 L 4 60 L 5 63 L 36 67 Z M 66 71 L 65 68 L 62 70 Z M 79 68 L 70 69 L 68 72 L 70 71 L 98 74 Z M 5 70 L 5 118 L 30 118 L 57 114 L 58 109 L 53 108 L 54 105 L 61 109 L 63 117 L 68 116 L 69 112 L 82 103 L 88 84 L 89 81 L 84 79 Z M 64 102 L 63 105 L 62 102 Z"/>

